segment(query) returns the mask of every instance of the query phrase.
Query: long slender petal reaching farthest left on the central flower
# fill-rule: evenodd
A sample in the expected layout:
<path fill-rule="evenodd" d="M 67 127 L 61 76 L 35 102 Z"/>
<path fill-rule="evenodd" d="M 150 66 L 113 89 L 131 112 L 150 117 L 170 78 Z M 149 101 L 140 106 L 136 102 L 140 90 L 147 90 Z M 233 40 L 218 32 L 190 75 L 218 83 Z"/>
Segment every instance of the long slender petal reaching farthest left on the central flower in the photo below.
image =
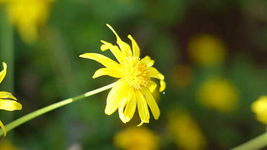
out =
<path fill-rule="evenodd" d="M 79 57 L 95 60 L 107 68 L 119 69 L 119 64 L 117 62 L 101 54 L 85 53 Z"/>

